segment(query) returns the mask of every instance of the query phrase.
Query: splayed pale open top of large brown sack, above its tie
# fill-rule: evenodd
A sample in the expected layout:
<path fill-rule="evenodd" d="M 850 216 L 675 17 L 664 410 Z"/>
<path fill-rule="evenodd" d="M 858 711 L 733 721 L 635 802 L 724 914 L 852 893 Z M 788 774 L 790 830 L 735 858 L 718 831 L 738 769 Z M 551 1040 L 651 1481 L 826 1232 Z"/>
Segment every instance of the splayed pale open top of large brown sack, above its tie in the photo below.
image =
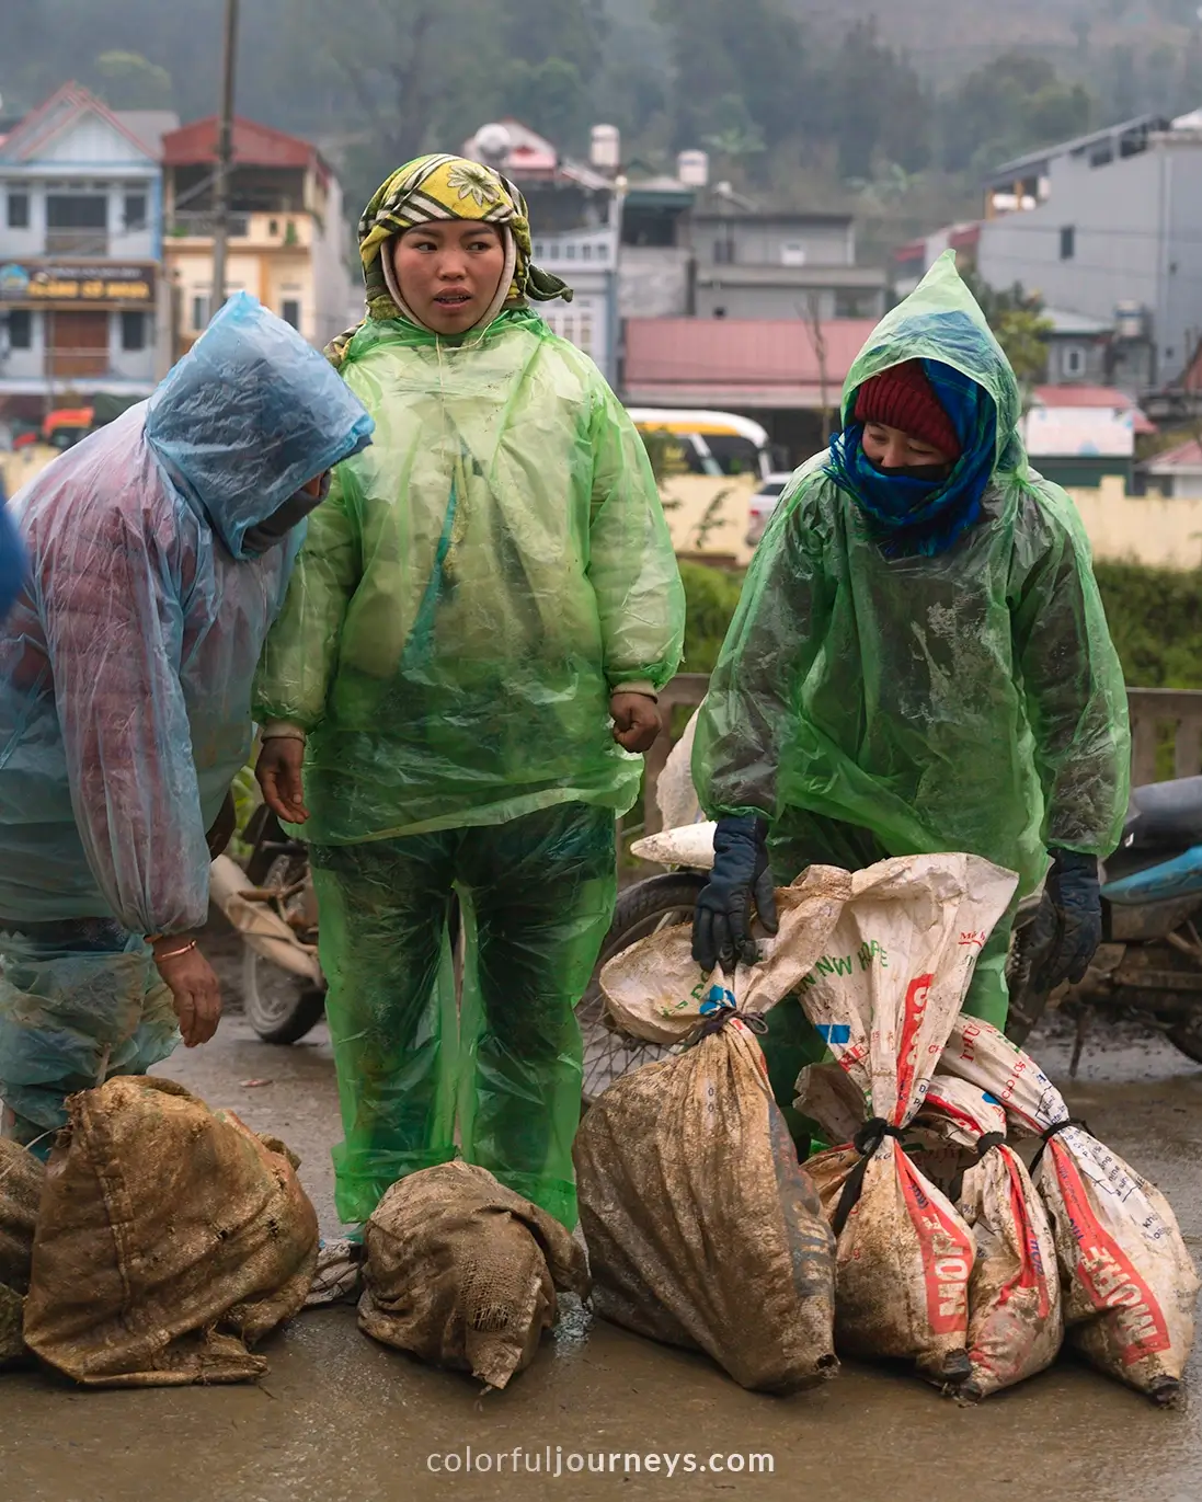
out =
<path fill-rule="evenodd" d="M 777 888 L 780 927 L 753 933 L 757 964 L 735 975 L 706 973 L 693 958 L 693 924 L 640 939 L 601 969 L 601 990 L 624 1032 L 649 1042 L 681 1042 L 723 1008 L 766 1012 L 813 969 L 850 897 L 852 877 L 834 865 L 811 865 L 792 886 Z"/>

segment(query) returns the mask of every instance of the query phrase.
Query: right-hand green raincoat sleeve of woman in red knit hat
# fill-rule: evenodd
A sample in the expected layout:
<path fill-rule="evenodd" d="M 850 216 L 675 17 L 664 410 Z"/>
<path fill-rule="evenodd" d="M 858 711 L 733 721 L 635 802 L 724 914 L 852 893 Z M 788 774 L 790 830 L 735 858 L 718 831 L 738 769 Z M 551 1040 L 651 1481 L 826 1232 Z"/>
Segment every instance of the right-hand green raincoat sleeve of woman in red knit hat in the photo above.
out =
<path fill-rule="evenodd" d="M 1071 502 L 1050 493 L 1035 505 L 1040 545 L 1011 620 L 1043 784 L 1043 837 L 1049 849 L 1104 859 L 1121 838 L 1130 793 L 1127 689 Z"/>

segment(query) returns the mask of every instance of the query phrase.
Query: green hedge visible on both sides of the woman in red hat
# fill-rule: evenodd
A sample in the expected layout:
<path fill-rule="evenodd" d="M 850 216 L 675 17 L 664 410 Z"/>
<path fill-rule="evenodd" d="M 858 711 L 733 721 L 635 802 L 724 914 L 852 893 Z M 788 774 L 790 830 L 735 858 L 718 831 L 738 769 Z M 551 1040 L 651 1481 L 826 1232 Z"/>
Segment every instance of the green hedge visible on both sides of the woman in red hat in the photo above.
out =
<path fill-rule="evenodd" d="M 1202 688 L 1202 572 L 1097 563 L 1106 617 L 1131 688 Z M 742 574 L 682 563 L 688 601 L 685 662 L 709 673 L 717 661 Z"/>

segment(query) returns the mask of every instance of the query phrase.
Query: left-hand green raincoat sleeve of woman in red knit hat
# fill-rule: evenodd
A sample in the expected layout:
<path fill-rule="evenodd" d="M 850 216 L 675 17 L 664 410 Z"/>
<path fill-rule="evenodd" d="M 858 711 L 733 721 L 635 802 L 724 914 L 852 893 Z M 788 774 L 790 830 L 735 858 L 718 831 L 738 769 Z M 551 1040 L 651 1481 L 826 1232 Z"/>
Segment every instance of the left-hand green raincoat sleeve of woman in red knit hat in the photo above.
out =
<path fill-rule="evenodd" d="M 829 589 L 808 496 L 777 509 L 751 560 L 697 716 L 693 781 L 709 819 L 775 819 L 783 746 L 829 619 Z"/>

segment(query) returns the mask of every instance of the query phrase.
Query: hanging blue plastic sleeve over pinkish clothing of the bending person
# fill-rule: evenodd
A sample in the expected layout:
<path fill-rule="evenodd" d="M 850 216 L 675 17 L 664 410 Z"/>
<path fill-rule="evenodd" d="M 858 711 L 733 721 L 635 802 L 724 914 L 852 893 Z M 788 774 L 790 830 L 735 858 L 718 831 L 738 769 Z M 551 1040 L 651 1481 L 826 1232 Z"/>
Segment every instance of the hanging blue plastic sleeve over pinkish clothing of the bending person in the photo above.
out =
<path fill-rule="evenodd" d="M 191 566 L 153 509 L 66 512 L 41 604 L 75 823 L 116 916 L 140 934 L 209 916 L 209 849 L 180 661 Z M 168 551 L 170 548 L 170 551 Z"/>

